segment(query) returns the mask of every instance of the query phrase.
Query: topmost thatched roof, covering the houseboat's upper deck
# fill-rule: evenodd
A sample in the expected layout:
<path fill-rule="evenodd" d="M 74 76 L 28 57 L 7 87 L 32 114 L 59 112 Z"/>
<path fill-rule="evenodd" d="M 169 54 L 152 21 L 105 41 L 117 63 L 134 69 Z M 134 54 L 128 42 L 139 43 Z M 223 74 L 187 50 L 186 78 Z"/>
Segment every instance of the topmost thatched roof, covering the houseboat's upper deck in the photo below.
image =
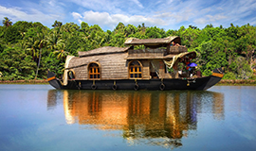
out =
<path fill-rule="evenodd" d="M 159 45 L 159 44 L 169 44 L 171 42 L 176 42 L 181 44 L 180 37 L 178 36 L 170 36 L 164 39 L 145 39 L 139 40 L 136 38 L 129 38 L 127 39 L 124 44 L 127 45 Z"/>

